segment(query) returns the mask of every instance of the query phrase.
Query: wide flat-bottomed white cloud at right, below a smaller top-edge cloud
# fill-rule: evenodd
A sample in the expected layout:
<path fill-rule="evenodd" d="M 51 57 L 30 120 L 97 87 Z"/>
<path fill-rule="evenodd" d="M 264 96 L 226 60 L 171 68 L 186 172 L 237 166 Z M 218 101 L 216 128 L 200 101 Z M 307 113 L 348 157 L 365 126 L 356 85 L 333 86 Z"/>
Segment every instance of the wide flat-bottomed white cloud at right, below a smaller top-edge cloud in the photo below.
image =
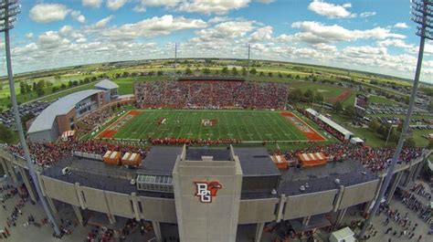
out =
<path fill-rule="evenodd" d="M 325 26 L 319 22 L 303 21 L 294 22 L 291 27 L 301 29 L 301 32 L 292 36 L 280 36 L 281 41 L 302 41 L 309 44 L 333 43 L 339 41 L 353 41 L 357 39 L 385 39 L 387 37 L 405 38 L 403 35 L 391 33 L 389 29 L 375 27 L 365 30 L 349 30 L 343 26 L 333 25 Z"/>

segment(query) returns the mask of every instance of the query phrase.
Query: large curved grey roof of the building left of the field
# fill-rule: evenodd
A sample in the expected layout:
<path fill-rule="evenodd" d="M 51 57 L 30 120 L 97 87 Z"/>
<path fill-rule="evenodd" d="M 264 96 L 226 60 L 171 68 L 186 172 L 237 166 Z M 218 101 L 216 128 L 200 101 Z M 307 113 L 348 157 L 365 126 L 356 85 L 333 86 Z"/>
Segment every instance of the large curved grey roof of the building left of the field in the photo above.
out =
<path fill-rule="evenodd" d="M 48 131 L 52 128 L 54 121 L 58 115 L 67 114 L 70 110 L 75 108 L 75 105 L 80 100 L 89 98 L 91 95 L 100 92 L 100 89 L 86 89 L 74 92 L 65 96 L 48 106 L 43 110 L 33 121 L 28 133 Z"/>

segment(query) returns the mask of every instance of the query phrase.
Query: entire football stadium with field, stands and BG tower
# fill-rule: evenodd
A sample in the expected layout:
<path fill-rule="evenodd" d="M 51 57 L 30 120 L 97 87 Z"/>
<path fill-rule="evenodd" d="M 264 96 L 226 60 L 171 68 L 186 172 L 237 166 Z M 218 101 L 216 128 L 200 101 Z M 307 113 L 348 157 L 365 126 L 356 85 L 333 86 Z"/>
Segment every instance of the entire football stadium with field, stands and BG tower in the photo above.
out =
<path fill-rule="evenodd" d="M 27 132 L 37 181 L 19 145 L 0 151 L 33 201 L 37 183 L 54 214 L 67 206 L 81 225 L 121 234 L 135 221 L 156 241 L 302 237 L 341 226 L 348 209 L 368 216 L 394 153 L 288 105 L 286 84 L 183 77 L 136 81 L 133 95 L 117 89 L 103 79 L 37 116 Z M 430 153 L 404 149 L 386 200 Z"/>

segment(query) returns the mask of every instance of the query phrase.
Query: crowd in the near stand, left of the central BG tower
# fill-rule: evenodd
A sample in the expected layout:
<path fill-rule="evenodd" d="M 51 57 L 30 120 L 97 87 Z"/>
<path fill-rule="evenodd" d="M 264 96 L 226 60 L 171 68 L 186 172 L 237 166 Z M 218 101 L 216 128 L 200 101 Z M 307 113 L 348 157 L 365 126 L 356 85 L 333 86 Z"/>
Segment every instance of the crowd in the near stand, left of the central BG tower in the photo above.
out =
<path fill-rule="evenodd" d="M 148 153 L 148 149 L 96 141 L 68 141 L 57 143 L 29 142 L 28 148 L 33 155 L 32 159 L 34 162 L 42 166 L 50 166 L 53 163 L 57 163 L 62 158 L 72 156 L 72 152 L 104 155 L 107 151 L 117 151 L 121 153 L 140 153 L 142 157 L 146 157 Z M 16 156 L 24 157 L 24 152 L 20 145 L 9 145 L 8 150 Z"/>

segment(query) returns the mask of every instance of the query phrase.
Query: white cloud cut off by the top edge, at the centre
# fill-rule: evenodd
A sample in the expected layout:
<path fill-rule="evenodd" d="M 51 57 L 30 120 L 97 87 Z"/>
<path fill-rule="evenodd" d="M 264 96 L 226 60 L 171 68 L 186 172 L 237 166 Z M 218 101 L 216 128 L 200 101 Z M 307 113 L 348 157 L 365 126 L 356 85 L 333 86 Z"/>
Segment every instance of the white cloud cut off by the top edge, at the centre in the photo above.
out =
<path fill-rule="evenodd" d="M 178 6 L 178 10 L 188 13 L 225 15 L 230 10 L 248 6 L 250 0 L 185 0 Z"/>

